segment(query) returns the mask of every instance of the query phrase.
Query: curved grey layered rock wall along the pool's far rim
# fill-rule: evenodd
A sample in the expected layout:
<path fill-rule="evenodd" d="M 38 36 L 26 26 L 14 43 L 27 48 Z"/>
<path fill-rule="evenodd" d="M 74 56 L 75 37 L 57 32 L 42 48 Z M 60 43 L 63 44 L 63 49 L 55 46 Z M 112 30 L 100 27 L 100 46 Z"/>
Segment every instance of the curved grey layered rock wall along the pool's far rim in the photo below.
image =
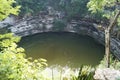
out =
<path fill-rule="evenodd" d="M 42 32 L 66 31 L 88 35 L 104 45 L 104 32 L 98 30 L 97 24 L 86 21 L 75 21 L 66 24 L 66 27 L 59 29 L 54 26 L 55 20 L 62 20 L 59 16 L 38 15 L 18 21 L 9 29 L 19 36 L 28 36 Z M 111 38 L 111 52 L 120 60 L 120 41 Z"/>

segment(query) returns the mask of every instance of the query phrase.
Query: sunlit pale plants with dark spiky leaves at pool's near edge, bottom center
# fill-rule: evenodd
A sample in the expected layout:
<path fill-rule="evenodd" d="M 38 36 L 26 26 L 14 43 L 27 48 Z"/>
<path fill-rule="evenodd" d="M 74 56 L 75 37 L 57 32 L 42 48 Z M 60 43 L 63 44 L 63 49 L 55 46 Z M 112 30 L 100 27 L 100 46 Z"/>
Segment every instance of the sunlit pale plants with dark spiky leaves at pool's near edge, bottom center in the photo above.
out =
<path fill-rule="evenodd" d="M 95 69 L 91 66 L 81 66 L 79 69 L 73 69 L 69 67 L 52 66 L 52 68 L 46 68 L 43 74 L 46 75 L 46 79 L 49 80 L 94 80 Z"/>

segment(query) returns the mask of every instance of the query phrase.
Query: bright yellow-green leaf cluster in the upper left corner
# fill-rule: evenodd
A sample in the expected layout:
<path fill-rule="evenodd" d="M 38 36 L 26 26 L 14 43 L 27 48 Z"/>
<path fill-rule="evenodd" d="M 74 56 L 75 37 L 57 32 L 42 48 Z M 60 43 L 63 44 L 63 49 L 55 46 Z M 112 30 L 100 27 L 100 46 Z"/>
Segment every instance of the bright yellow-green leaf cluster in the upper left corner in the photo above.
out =
<path fill-rule="evenodd" d="M 15 0 L 0 0 L 0 20 L 5 19 L 10 14 L 17 15 L 20 6 L 13 6 Z"/>

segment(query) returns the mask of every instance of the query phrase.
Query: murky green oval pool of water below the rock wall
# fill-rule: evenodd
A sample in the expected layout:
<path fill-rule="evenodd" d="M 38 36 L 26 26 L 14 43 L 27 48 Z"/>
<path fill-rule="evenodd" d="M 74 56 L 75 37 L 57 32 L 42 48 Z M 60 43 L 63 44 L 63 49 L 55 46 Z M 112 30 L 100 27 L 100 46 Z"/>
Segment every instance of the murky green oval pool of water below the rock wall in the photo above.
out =
<path fill-rule="evenodd" d="M 45 58 L 48 65 L 97 65 L 104 56 L 102 45 L 74 33 L 40 33 L 22 38 L 20 45 L 25 48 L 27 57 Z"/>

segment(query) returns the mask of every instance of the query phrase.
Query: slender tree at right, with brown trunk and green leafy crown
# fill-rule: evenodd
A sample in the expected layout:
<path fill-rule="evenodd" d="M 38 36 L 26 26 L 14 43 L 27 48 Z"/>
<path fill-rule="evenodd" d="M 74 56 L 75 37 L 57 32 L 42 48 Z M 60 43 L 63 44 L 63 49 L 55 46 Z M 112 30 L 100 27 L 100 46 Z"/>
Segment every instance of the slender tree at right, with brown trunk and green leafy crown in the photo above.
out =
<path fill-rule="evenodd" d="M 90 0 L 88 8 L 92 13 L 102 12 L 103 17 L 109 19 L 109 26 L 103 27 L 105 30 L 105 54 L 106 66 L 110 67 L 110 34 L 115 27 L 116 22 L 120 22 L 119 4 L 120 0 Z"/>

